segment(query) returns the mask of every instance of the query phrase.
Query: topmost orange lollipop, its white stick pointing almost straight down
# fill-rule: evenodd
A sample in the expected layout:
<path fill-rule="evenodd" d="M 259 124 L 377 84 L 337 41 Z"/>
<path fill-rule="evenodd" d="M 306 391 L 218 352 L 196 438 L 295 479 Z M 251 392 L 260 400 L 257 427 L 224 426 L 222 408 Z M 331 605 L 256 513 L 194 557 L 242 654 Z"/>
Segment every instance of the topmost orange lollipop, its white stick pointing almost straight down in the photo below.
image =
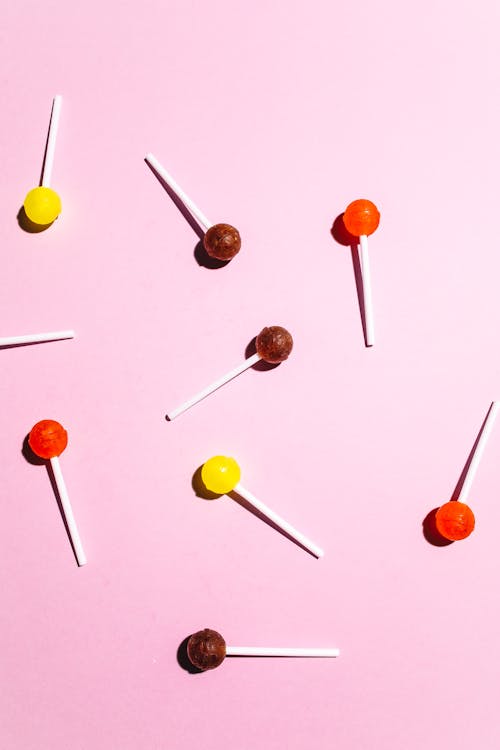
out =
<path fill-rule="evenodd" d="M 359 237 L 359 262 L 363 279 L 366 346 L 373 346 L 375 342 L 368 235 L 376 230 L 379 221 L 380 213 L 376 205 L 371 201 L 364 199 L 353 201 L 349 203 L 344 211 L 344 224 L 347 231 L 355 237 Z"/>

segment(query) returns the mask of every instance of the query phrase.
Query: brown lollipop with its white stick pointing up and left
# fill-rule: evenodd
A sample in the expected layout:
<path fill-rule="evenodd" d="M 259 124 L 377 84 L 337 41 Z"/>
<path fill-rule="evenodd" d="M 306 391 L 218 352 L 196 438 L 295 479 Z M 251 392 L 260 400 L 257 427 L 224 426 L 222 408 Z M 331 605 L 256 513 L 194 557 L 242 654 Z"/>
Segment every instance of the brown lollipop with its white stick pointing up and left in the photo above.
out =
<path fill-rule="evenodd" d="M 146 161 L 182 201 L 203 230 L 203 246 L 208 255 L 217 260 L 234 258 L 241 248 L 241 237 L 238 230 L 231 224 L 212 224 L 153 154 L 147 154 Z"/>

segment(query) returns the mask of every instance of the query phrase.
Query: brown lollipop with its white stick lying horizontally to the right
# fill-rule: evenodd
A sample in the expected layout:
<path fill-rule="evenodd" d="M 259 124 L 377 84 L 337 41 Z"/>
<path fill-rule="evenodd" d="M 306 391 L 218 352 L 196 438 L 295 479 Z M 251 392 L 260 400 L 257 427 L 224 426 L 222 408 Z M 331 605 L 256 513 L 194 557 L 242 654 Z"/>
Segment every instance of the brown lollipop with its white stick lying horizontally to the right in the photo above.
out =
<path fill-rule="evenodd" d="M 226 646 L 216 630 L 205 628 L 189 638 L 187 654 L 193 666 L 203 672 L 219 667 L 226 656 L 339 656 L 338 648 L 282 648 L 269 646 Z"/>

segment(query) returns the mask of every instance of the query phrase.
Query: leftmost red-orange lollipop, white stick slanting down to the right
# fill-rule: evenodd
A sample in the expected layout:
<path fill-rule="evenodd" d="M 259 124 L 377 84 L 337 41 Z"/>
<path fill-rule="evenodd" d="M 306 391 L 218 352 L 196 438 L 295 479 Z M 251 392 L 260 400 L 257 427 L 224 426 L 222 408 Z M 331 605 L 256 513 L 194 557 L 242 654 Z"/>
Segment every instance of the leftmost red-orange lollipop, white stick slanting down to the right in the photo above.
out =
<path fill-rule="evenodd" d="M 37 422 L 33 427 L 29 434 L 28 443 L 33 453 L 40 456 L 40 458 L 50 461 L 61 500 L 64 519 L 78 565 L 85 565 L 87 558 L 85 557 L 85 552 L 80 541 L 80 535 L 76 527 L 73 509 L 69 501 L 68 491 L 58 458 L 68 444 L 68 433 L 59 422 L 55 422 L 53 419 L 44 419 L 41 422 Z"/>

